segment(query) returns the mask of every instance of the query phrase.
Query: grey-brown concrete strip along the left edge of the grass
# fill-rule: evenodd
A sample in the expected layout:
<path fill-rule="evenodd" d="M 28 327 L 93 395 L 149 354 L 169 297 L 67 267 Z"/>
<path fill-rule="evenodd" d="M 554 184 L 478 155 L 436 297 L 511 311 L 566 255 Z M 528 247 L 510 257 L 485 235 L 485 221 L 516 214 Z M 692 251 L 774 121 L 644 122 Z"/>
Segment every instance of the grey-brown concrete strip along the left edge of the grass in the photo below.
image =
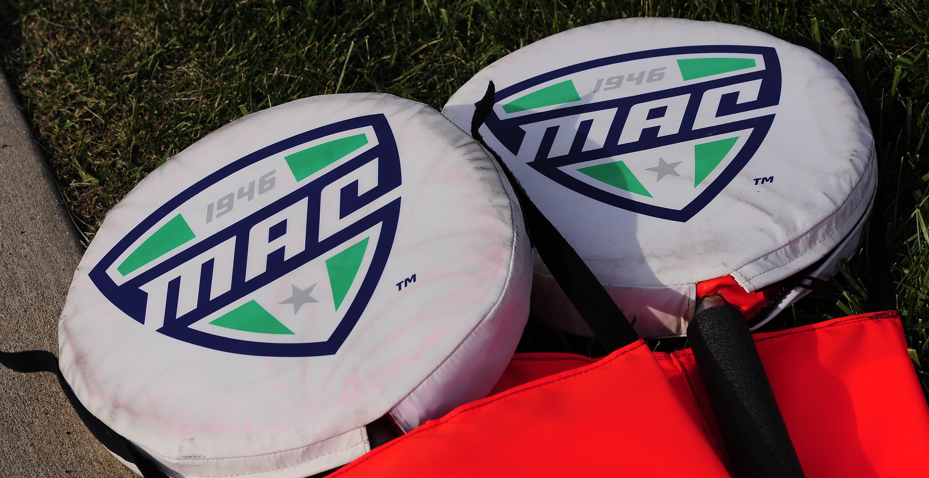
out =
<path fill-rule="evenodd" d="M 58 355 L 81 247 L 0 71 L 0 350 Z M 0 367 L 0 478 L 132 477 L 77 418 L 51 373 Z"/>

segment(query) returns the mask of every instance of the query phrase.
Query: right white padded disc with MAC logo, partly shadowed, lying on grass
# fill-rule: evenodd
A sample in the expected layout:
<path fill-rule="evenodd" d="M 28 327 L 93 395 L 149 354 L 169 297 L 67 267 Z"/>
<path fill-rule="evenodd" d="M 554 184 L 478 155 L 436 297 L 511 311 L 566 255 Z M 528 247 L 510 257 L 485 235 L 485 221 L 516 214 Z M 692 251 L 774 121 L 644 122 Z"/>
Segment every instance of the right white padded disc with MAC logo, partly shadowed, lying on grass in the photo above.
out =
<path fill-rule="evenodd" d="M 814 268 L 829 274 L 857 244 L 870 126 L 805 48 L 715 22 L 605 21 L 501 58 L 442 112 L 470 131 L 490 81 L 482 135 L 644 336 L 683 334 L 702 280 L 757 291 L 827 256 Z M 589 334 L 535 273 L 532 317 Z"/>

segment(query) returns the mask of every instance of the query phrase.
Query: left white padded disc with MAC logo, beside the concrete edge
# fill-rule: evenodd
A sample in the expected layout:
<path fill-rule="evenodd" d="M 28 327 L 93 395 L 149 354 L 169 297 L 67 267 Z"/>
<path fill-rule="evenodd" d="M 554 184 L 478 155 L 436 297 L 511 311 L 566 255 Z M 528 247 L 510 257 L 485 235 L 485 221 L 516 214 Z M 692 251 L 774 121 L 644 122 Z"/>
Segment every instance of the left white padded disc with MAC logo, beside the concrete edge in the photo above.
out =
<path fill-rule="evenodd" d="M 297 478 L 486 396 L 529 310 L 521 213 L 437 111 L 380 94 L 250 114 L 153 171 L 74 275 L 60 365 L 172 476 Z"/>

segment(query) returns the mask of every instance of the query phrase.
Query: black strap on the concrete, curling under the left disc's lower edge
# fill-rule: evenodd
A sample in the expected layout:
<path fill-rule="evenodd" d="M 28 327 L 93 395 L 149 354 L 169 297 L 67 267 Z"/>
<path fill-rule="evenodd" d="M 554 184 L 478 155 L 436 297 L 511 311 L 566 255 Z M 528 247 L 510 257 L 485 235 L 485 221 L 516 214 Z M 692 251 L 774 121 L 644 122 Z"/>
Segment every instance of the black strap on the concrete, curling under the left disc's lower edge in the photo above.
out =
<path fill-rule="evenodd" d="M 143 478 L 167 478 L 161 470 L 158 470 L 150 461 L 140 456 L 135 447 L 129 445 L 125 437 L 113 430 L 94 417 L 84 404 L 77 399 L 77 395 L 71 389 L 71 385 L 64 380 L 59 368 L 58 357 L 46 350 L 29 350 L 25 352 L 0 352 L 0 365 L 21 373 L 33 372 L 51 372 L 58 377 L 61 391 L 68 397 L 77 416 L 84 422 L 87 430 L 93 433 L 103 446 L 106 446 L 111 452 L 119 458 L 124 459 L 138 467 Z"/>

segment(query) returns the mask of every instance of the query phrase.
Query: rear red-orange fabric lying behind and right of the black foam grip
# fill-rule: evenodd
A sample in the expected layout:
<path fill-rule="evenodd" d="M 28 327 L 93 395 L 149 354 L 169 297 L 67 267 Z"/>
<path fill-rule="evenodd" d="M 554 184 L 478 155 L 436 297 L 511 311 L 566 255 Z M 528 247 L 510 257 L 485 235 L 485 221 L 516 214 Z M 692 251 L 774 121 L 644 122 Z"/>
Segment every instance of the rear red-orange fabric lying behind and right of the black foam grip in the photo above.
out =
<path fill-rule="evenodd" d="M 929 476 L 929 406 L 896 312 L 753 338 L 806 478 Z M 654 355 L 681 406 L 718 440 L 692 352 Z M 537 380 L 555 363 L 568 369 L 592 360 L 570 354 L 514 358 L 501 383 Z"/>

